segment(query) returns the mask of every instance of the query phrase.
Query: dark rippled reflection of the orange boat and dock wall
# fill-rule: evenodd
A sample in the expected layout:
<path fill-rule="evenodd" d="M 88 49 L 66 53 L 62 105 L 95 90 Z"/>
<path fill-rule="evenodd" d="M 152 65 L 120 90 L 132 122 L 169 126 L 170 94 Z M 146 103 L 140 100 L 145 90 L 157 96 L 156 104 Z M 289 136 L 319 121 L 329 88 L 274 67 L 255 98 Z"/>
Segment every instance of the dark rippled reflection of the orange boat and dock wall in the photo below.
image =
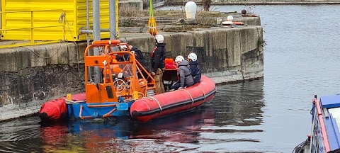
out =
<path fill-rule="evenodd" d="M 0 152 L 259 151 L 262 86 L 263 80 L 220 85 L 209 103 L 148 123 L 128 118 L 52 125 L 39 123 L 38 117 L 13 120 L 1 124 Z M 244 143 L 249 149 L 237 147 Z"/>

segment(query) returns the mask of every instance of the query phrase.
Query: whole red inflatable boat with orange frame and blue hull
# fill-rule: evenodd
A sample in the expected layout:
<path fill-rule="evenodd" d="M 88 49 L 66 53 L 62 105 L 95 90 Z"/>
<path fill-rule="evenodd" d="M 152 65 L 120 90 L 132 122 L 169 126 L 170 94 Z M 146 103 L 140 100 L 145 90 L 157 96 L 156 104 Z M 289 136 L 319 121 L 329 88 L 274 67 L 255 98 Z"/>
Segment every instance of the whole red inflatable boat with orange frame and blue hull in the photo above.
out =
<path fill-rule="evenodd" d="M 205 76 L 202 76 L 200 83 L 186 89 L 155 95 L 156 81 L 151 74 L 135 59 L 132 52 L 121 50 L 122 46 L 129 46 L 127 43 L 100 40 L 93 44 L 86 47 L 84 52 L 86 93 L 69 94 L 67 98 L 47 101 L 39 111 L 42 121 L 131 116 L 147 122 L 190 110 L 215 96 L 215 82 Z M 108 52 L 88 55 L 88 51 L 94 47 L 104 47 Z M 113 51 L 111 47 L 118 47 L 120 51 Z M 129 55 L 128 60 L 113 62 L 117 57 L 125 55 Z M 91 72 L 88 71 L 95 67 L 103 69 L 103 79 L 96 82 L 89 78 Z M 170 68 L 165 69 L 163 74 L 164 82 L 168 83 L 166 87 L 178 80 L 177 69 Z"/>

